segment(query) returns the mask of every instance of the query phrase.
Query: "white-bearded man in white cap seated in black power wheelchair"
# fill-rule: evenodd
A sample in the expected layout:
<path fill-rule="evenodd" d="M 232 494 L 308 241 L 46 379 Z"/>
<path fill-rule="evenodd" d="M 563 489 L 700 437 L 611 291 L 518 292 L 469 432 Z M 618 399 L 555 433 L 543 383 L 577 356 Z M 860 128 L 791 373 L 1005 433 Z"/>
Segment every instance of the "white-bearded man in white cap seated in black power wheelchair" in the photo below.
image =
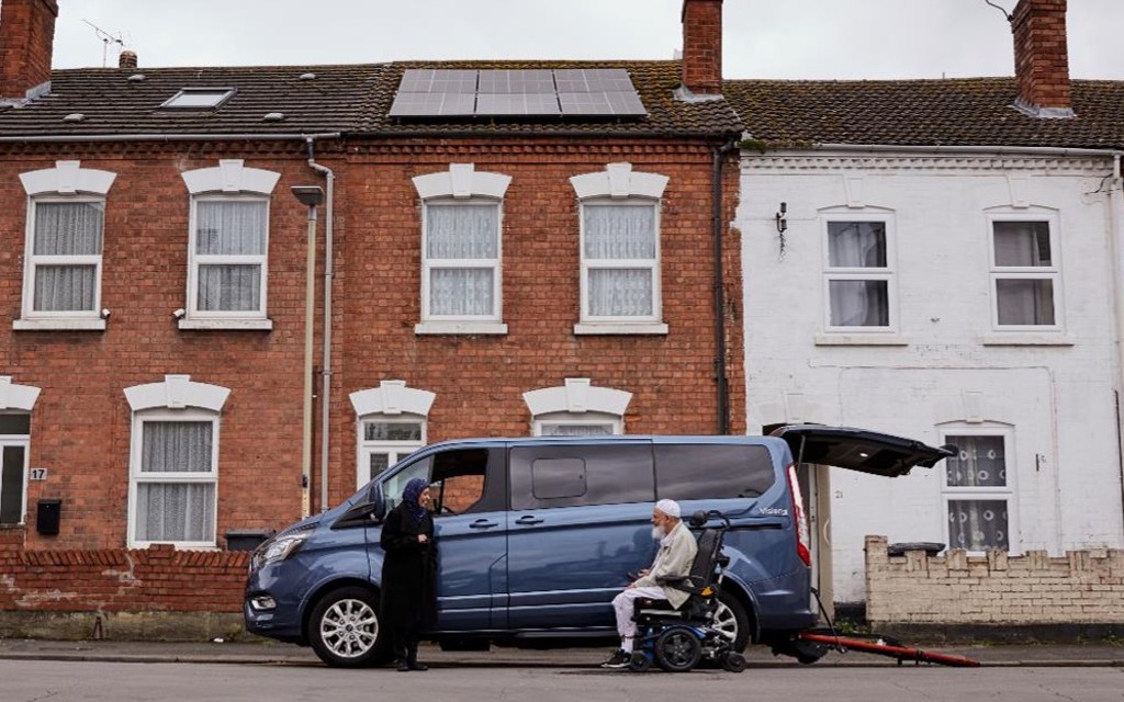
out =
<path fill-rule="evenodd" d="M 605 667 L 643 672 L 654 662 L 664 671 L 682 673 L 706 662 L 741 673 L 745 669 L 745 658 L 734 650 L 728 635 L 713 626 L 723 571 L 729 563 L 729 558 L 722 553 L 723 536 L 729 520 L 718 512 L 696 512 L 691 517 L 692 527 L 703 527 L 710 517 L 723 522 L 720 527 L 704 530 L 696 544 L 679 519 L 679 505 L 670 500 L 661 502 L 665 504 L 662 509 L 661 504 L 656 504 L 656 513 L 662 512 L 667 517 L 669 512 L 674 512 L 673 520 L 665 520 L 665 523 L 673 523 L 673 529 L 687 532 L 695 546 L 694 549 L 686 549 L 694 550 L 689 571 L 683 572 L 682 564 L 677 563 L 680 569 L 668 572 L 661 567 L 667 563 L 661 562 L 661 554 L 658 553 L 652 568 L 642 573 L 641 578 L 614 599 L 622 651 L 614 654 Z M 656 513 L 653 513 L 653 523 L 658 521 Z M 667 537 L 661 540 L 661 553 L 665 540 Z M 658 587 L 647 585 L 645 578 Z M 626 607 L 631 611 L 623 611 Z M 623 621 L 625 618 L 627 623 Z"/>

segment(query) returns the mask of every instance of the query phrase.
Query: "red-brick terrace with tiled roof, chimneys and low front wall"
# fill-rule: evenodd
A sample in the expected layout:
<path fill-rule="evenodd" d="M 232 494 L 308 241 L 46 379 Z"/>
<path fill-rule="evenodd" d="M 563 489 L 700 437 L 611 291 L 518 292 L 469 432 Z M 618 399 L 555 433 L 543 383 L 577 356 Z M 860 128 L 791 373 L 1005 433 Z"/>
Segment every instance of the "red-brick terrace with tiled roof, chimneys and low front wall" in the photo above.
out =
<path fill-rule="evenodd" d="M 228 536 L 424 443 L 744 432 L 720 6 L 682 62 L 51 72 L 4 0 L 0 611 L 237 612 Z"/>

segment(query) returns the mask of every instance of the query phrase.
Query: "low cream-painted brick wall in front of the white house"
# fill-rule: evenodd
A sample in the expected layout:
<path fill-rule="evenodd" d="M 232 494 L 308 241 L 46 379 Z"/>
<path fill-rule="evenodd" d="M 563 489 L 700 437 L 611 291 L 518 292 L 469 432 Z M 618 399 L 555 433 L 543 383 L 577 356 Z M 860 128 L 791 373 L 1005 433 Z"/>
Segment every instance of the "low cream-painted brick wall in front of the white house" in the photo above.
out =
<path fill-rule="evenodd" d="M 1122 599 L 1120 549 L 890 557 L 886 537 L 867 537 L 867 619 L 874 624 L 1121 623 Z"/>

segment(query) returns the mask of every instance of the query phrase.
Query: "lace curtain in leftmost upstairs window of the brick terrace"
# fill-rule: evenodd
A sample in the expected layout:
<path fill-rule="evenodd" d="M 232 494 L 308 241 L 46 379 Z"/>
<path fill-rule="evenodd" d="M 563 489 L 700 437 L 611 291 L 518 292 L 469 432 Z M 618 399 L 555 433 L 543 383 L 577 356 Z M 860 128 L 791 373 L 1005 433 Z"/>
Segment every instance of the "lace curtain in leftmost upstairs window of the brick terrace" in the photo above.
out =
<path fill-rule="evenodd" d="M 33 307 L 36 311 L 94 309 L 98 293 L 96 264 L 53 264 L 40 257 L 100 256 L 105 209 L 101 202 L 40 202 L 35 206 Z"/>

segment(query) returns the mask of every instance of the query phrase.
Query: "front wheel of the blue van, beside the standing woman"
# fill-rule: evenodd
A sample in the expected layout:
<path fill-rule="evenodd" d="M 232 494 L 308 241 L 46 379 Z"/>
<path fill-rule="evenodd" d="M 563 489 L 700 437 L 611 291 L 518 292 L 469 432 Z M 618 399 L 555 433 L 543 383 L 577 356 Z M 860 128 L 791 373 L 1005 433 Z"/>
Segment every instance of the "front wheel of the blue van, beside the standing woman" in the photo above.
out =
<path fill-rule="evenodd" d="M 357 668 L 387 660 L 389 632 L 379 624 L 379 601 L 369 590 L 333 590 L 317 602 L 308 624 L 312 650 L 332 667 Z"/>

